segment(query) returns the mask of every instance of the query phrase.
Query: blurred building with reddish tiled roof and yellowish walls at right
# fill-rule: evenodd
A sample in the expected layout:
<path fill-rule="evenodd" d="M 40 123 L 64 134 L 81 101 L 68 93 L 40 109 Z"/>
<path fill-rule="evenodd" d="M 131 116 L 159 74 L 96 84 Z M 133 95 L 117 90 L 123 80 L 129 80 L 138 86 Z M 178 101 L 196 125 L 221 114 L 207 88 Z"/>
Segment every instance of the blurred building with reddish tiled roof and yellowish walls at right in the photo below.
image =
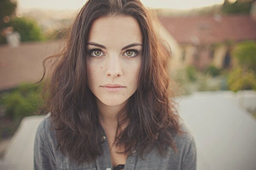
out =
<path fill-rule="evenodd" d="M 213 15 L 202 17 L 160 17 L 161 24 L 176 40 L 180 54 L 177 65 L 195 65 L 202 70 L 213 64 L 230 68 L 230 51 L 237 42 L 256 40 L 256 15 Z M 173 47 L 171 47 L 173 48 Z"/>

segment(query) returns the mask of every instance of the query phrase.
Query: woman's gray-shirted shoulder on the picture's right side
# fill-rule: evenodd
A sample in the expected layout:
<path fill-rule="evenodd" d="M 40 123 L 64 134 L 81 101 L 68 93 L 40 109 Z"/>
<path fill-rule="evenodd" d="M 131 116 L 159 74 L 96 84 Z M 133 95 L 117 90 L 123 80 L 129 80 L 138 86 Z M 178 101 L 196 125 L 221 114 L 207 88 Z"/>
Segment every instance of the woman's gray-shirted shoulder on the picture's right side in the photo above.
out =
<path fill-rule="evenodd" d="M 143 157 L 145 160 L 138 159 L 136 169 L 196 170 L 194 137 L 185 122 L 180 121 L 179 125 L 184 133 L 179 135 L 171 130 L 177 152 L 169 146 L 166 148 L 166 154 L 162 156 L 155 147 Z"/>

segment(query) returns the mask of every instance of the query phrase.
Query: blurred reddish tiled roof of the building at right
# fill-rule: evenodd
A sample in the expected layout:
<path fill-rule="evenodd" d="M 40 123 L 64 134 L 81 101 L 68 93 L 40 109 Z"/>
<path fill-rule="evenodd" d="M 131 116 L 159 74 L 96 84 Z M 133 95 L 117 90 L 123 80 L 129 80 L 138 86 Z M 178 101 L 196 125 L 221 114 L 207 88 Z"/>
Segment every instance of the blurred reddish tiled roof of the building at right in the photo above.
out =
<path fill-rule="evenodd" d="M 160 17 L 178 43 L 215 43 L 256 40 L 256 20 L 249 15 Z"/>

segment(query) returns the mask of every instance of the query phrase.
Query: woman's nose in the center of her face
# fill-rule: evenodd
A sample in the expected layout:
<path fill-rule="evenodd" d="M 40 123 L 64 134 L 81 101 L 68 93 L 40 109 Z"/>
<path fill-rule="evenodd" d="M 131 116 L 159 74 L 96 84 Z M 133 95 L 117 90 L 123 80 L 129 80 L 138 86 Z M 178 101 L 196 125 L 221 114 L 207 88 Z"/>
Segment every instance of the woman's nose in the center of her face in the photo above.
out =
<path fill-rule="evenodd" d="M 120 77 L 122 75 L 122 62 L 118 55 L 112 55 L 106 59 L 106 74 L 108 77 Z"/>

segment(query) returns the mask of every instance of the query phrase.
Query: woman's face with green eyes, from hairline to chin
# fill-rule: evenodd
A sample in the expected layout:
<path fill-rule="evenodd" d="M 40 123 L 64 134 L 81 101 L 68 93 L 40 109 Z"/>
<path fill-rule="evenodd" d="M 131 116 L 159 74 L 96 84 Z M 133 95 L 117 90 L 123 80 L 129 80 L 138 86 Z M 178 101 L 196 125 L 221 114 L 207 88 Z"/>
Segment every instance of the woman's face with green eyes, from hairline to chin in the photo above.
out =
<path fill-rule="evenodd" d="M 87 82 L 97 102 L 117 106 L 137 90 L 142 33 L 133 17 L 100 17 L 87 40 Z"/>

